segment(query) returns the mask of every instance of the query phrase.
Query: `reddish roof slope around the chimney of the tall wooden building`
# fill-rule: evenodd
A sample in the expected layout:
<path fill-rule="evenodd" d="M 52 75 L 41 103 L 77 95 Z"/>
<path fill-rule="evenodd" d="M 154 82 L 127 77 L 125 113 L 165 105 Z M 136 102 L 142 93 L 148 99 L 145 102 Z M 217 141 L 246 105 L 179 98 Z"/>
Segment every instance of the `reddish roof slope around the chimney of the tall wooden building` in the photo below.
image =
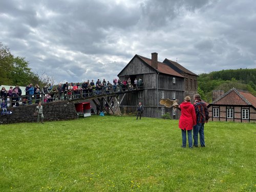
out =
<path fill-rule="evenodd" d="M 149 58 L 146 58 L 146 57 L 143 57 L 143 56 L 140 56 L 140 55 L 137 55 L 137 56 L 140 57 L 145 63 L 147 63 L 147 65 L 150 65 L 152 67 L 152 59 L 149 59 Z M 177 77 L 183 77 L 181 74 L 179 74 L 178 72 L 176 72 L 174 69 L 170 68 L 168 65 L 166 65 L 163 62 L 157 62 L 157 65 L 158 65 L 157 71 L 159 71 L 160 73 L 164 73 L 164 74 L 168 74 L 168 75 L 174 75 L 174 76 L 177 76 Z"/>

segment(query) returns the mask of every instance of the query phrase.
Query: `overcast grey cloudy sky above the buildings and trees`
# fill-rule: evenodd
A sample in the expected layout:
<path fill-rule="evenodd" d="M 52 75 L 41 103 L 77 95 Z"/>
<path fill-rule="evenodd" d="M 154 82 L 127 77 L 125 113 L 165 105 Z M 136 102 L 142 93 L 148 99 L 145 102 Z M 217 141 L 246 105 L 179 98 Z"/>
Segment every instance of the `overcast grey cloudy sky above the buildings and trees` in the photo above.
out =
<path fill-rule="evenodd" d="M 135 54 L 196 74 L 256 66 L 254 0 L 1 0 L 0 42 L 57 82 L 112 81 Z"/>

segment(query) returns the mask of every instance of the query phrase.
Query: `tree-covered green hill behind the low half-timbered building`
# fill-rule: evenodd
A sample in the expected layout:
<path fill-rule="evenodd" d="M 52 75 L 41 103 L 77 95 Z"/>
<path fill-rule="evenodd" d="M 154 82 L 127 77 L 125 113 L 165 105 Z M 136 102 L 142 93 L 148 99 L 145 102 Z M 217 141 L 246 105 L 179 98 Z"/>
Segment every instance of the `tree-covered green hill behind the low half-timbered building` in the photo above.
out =
<path fill-rule="evenodd" d="M 232 88 L 256 95 L 256 69 L 236 69 L 203 73 L 198 77 L 198 92 L 207 102 L 212 102 L 213 90 L 227 92 Z"/>

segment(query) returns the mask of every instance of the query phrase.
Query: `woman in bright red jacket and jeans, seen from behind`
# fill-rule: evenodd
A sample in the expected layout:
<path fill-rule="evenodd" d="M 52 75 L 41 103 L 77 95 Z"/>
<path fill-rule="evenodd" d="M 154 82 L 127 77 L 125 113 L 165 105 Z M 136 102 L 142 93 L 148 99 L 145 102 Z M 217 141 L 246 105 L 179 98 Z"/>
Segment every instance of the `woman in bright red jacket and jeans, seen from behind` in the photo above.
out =
<path fill-rule="evenodd" d="M 188 138 L 188 146 L 192 148 L 193 140 L 192 140 L 192 130 L 193 125 L 197 124 L 196 112 L 194 105 L 190 103 L 190 97 L 186 96 L 185 101 L 180 104 L 181 116 L 179 121 L 179 127 L 181 129 L 182 135 L 182 146 L 186 147 L 186 131 Z"/>

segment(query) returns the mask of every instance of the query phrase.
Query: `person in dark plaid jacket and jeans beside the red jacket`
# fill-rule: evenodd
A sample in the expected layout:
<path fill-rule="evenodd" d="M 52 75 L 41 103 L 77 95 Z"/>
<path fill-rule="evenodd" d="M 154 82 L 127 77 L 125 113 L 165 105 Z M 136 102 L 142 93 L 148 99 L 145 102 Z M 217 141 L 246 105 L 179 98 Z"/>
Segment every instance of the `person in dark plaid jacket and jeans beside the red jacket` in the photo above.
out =
<path fill-rule="evenodd" d="M 198 147 L 198 133 L 200 136 L 200 145 L 201 147 L 205 147 L 204 142 L 204 123 L 208 122 L 209 111 L 204 102 L 201 100 L 201 96 L 199 94 L 194 95 L 194 106 L 197 116 L 197 124 L 193 128 L 193 139 L 194 146 Z"/>

